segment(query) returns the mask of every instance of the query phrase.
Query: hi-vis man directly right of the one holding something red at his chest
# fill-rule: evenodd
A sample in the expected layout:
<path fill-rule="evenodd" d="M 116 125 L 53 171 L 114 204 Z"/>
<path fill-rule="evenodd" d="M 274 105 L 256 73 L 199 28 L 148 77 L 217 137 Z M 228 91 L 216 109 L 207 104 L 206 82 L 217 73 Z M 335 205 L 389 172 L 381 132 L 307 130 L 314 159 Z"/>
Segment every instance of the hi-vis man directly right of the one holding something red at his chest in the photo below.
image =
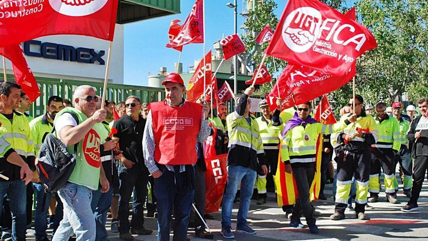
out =
<path fill-rule="evenodd" d="M 379 102 L 375 106 L 376 124 L 379 130 L 379 139 L 376 144 L 372 144 L 372 160 L 370 163 L 369 178 L 369 203 L 375 203 L 379 197 L 379 174 L 382 167 L 385 174 L 385 193 L 387 202 L 398 204 L 395 198 L 395 154 L 400 150 L 401 136 L 400 124 L 397 119 L 390 117 L 386 113 L 386 104 Z M 408 125 L 409 126 L 409 125 Z"/>

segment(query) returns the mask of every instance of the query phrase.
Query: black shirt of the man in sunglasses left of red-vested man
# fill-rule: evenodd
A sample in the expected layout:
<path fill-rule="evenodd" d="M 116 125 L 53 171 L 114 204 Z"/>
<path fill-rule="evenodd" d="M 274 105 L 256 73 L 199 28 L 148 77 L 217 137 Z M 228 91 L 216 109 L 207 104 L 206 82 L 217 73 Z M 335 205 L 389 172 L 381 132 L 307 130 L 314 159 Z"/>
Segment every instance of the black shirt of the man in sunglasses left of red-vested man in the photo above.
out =
<path fill-rule="evenodd" d="M 117 129 L 116 137 L 119 137 L 119 148 L 126 159 L 134 162 L 140 168 L 147 171 L 143 157 L 143 132 L 145 119 L 140 116 L 138 121 L 129 116 L 124 116 L 115 121 L 113 127 Z M 136 166 L 134 165 L 134 167 Z"/>

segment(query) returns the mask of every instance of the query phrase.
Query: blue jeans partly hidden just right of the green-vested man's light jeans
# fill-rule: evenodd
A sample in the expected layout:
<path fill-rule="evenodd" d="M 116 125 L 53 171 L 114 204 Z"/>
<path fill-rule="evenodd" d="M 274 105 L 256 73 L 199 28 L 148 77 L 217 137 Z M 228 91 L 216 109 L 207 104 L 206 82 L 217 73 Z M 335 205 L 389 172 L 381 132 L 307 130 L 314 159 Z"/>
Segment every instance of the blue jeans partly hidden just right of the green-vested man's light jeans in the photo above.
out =
<path fill-rule="evenodd" d="M 92 202 L 90 204 L 96 224 L 95 241 L 107 241 L 107 211 L 113 199 L 113 188 L 110 187 L 106 193 L 102 193 L 101 188 L 100 186 L 98 190 L 92 190 Z"/>

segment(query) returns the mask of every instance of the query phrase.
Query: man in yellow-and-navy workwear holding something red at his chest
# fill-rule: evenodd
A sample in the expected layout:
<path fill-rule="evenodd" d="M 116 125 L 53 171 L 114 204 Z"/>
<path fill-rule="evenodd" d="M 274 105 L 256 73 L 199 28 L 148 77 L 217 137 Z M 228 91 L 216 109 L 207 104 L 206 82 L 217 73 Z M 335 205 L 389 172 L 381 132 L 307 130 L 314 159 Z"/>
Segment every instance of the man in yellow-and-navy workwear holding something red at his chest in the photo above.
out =
<path fill-rule="evenodd" d="M 355 175 L 357 182 L 357 196 L 355 198 L 355 215 L 360 220 L 367 220 L 364 214 L 367 204 L 370 175 L 370 148 L 379 139 L 379 131 L 375 119 L 367 115 L 364 110 L 363 97 L 356 95 L 349 100 L 348 106 L 351 113 L 342 116 L 341 120 L 357 114 L 357 121 L 340 131 L 337 137 L 337 155 L 335 161 L 338 164 L 337 192 L 335 201 L 335 213 L 330 216 L 332 220 L 345 218 L 345 209 L 351 190 L 352 177 Z M 355 109 L 354 109 L 355 103 Z"/>

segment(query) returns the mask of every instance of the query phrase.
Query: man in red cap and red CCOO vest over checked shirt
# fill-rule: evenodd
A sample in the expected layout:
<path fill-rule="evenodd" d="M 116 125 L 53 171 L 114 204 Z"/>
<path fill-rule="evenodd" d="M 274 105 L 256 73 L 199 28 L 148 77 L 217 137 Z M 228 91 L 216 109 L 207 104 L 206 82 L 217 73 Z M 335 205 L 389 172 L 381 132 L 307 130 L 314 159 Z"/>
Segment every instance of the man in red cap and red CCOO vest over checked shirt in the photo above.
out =
<path fill-rule="evenodd" d="M 174 240 L 186 240 L 187 225 L 195 194 L 196 141 L 211 133 L 208 106 L 185 101 L 179 74 L 165 81 L 166 100 L 151 103 L 143 135 L 144 163 L 154 178 L 158 209 L 158 241 L 169 241 L 174 206 Z"/>

